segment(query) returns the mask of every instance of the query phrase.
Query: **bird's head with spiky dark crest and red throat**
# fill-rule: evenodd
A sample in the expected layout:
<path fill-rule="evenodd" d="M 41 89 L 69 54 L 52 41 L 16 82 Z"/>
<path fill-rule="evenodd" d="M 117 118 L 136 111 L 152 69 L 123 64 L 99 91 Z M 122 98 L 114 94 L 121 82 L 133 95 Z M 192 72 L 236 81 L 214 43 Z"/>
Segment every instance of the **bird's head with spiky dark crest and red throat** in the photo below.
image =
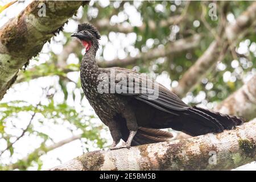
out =
<path fill-rule="evenodd" d="M 78 38 L 85 47 L 86 51 L 89 51 L 91 47 L 97 51 L 99 46 L 98 40 L 101 38 L 98 30 L 89 23 L 79 24 L 77 32 L 71 36 Z"/>

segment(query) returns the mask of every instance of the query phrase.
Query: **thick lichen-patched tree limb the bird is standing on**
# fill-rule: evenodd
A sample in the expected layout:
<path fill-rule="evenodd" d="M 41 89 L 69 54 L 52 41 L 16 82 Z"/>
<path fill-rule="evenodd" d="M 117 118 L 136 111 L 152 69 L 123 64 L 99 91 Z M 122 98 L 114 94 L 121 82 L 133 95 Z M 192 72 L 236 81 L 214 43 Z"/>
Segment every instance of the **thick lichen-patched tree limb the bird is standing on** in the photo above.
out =
<path fill-rule="evenodd" d="M 256 119 L 220 134 L 88 152 L 50 170 L 227 170 L 254 160 Z"/>

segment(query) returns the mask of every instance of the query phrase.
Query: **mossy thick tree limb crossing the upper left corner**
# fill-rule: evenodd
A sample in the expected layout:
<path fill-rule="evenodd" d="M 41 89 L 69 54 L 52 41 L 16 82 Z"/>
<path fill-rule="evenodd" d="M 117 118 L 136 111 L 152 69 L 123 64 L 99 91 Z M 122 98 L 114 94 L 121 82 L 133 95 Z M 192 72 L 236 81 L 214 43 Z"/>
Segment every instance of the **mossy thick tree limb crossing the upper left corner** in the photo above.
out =
<path fill-rule="evenodd" d="M 45 3 L 46 16 L 38 11 Z M 17 73 L 31 57 L 41 51 L 44 43 L 61 30 L 81 1 L 34 1 L 0 30 L 0 100 L 16 80 Z"/>

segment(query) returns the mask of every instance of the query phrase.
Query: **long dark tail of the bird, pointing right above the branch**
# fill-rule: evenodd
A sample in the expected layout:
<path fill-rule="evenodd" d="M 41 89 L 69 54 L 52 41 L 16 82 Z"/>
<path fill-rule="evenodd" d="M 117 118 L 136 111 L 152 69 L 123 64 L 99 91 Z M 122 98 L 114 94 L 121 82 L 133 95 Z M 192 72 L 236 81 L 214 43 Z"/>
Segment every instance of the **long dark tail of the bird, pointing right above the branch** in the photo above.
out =
<path fill-rule="evenodd" d="M 242 125 L 243 123 L 242 118 L 238 118 L 233 115 L 222 114 L 222 113 L 210 111 L 210 110 L 203 109 L 196 106 L 191 107 L 190 110 L 202 115 L 203 117 L 209 118 L 211 122 L 216 123 L 216 126 L 217 125 L 222 126 L 220 128 L 216 127 L 216 131 L 214 132 L 221 132 L 220 130 L 221 128 L 226 130 L 231 130 L 238 125 Z"/>

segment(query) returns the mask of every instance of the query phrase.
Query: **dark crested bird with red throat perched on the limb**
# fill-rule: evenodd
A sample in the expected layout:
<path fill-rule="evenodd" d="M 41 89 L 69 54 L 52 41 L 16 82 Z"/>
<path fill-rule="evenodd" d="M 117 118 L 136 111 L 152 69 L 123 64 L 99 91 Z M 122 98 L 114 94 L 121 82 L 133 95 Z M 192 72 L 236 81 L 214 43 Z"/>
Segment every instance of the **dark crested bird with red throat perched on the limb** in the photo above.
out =
<path fill-rule="evenodd" d="M 130 69 L 100 68 L 96 52 L 100 32 L 90 23 L 71 35 L 85 48 L 80 65 L 82 90 L 113 138 L 110 150 L 163 142 L 171 128 L 192 137 L 221 133 L 242 125 L 243 119 L 185 104 L 154 78 Z M 125 143 L 118 146 L 120 140 Z"/>

